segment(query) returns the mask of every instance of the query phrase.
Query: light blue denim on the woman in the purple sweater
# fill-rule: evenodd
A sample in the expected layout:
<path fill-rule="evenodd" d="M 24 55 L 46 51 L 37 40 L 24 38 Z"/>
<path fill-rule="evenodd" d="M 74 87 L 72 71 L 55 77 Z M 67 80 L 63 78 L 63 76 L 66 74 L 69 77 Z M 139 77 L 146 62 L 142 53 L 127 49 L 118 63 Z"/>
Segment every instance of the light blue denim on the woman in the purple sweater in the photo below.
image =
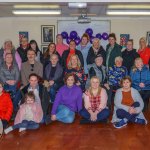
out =
<path fill-rule="evenodd" d="M 72 123 L 75 118 L 75 112 L 71 111 L 65 105 L 59 105 L 56 112 L 56 119 L 63 123 Z"/>

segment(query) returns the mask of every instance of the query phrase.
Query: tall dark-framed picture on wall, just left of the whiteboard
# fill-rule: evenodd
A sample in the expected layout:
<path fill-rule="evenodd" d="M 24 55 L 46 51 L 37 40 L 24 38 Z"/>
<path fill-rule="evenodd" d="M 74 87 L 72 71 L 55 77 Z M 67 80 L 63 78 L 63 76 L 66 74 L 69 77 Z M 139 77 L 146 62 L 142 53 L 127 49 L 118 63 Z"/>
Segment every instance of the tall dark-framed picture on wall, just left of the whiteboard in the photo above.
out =
<path fill-rule="evenodd" d="M 55 26 L 54 25 L 42 25 L 41 26 L 41 43 L 49 44 L 55 42 Z"/>

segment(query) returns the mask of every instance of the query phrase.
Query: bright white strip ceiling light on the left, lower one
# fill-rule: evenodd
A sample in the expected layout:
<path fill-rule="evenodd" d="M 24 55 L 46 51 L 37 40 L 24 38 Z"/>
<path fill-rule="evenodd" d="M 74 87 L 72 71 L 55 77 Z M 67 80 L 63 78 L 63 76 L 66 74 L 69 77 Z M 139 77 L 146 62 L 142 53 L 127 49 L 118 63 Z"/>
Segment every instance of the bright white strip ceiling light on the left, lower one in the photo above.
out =
<path fill-rule="evenodd" d="M 61 10 L 13 10 L 15 15 L 60 15 Z"/>

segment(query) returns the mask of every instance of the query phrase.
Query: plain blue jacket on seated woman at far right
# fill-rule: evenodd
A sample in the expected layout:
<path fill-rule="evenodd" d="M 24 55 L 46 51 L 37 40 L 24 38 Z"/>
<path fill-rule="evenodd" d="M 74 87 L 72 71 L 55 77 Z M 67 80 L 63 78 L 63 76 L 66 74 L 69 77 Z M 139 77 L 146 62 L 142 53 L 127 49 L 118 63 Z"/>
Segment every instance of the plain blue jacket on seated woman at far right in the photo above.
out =
<path fill-rule="evenodd" d="M 137 89 L 137 90 L 150 90 L 150 70 L 146 67 L 143 66 L 142 70 L 136 70 L 133 72 L 131 70 L 130 76 L 132 79 L 132 87 Z M 145 87 L 141 88 L 139 86 L 140 83 L 144 83 Z"/>

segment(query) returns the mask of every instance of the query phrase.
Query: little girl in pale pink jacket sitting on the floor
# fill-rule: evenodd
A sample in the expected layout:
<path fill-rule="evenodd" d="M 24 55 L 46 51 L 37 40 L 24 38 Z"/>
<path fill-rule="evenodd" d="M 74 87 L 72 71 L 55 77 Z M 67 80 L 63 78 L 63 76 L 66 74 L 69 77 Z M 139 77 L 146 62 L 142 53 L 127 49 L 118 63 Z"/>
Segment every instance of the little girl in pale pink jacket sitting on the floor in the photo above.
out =
<path fill-rule="evenodd" d="M 5 129 L 5 134 L 19 128 L 19 132 L 26 129 L 37 129 L 43 118 L 41 105 L 35 102 L 35 95 L 32 91 L 26 94 L 25 103 L 20 106 L 16 115 L 14 126 Z"/>

